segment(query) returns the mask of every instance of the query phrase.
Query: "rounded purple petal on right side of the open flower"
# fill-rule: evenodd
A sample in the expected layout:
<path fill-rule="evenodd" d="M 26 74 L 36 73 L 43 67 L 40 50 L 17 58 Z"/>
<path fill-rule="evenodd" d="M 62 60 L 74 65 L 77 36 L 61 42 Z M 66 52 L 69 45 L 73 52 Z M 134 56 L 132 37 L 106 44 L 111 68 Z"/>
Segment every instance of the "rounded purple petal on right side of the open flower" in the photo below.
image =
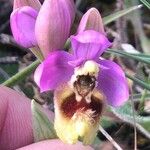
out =
<path fill-rule="evenodd" d="M 129 88 L 121 67 L 110 60 L 100 61 L 98 88 L 104 93 L 108 104 L 120 106 L 129 98 Z"/>

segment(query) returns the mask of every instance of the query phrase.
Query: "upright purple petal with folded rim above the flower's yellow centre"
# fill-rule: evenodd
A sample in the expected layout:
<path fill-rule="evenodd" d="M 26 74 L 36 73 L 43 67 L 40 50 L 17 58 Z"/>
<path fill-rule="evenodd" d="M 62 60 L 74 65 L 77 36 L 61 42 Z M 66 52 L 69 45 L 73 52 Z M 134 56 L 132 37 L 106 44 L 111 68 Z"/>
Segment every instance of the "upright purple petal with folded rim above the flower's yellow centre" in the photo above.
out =
<path fill-rule="evenodd" d="M 86 30 L 71 36 L 71 45 L 76 58 L 95 59 L 111 45 L 107 37 L 94 30 Z"/>

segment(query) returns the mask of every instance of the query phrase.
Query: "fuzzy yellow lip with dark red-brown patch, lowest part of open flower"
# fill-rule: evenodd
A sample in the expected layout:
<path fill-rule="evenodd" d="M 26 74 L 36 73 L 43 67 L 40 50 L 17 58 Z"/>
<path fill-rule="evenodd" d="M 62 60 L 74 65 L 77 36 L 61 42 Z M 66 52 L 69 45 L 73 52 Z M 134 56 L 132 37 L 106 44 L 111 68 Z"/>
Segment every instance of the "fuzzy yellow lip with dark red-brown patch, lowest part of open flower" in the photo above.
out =
<path fill-rule="evenodd" d="M 105 97 L 96 88 L 92 88 L 90 101 L 84 97 L 78 101 L 78 93 L 74 88 L 64 84 L 55 91 L 56 133 L 66 143 L 76 143 L 80 138 L 84 144 L 91 144 L 98 130 Z"/>

